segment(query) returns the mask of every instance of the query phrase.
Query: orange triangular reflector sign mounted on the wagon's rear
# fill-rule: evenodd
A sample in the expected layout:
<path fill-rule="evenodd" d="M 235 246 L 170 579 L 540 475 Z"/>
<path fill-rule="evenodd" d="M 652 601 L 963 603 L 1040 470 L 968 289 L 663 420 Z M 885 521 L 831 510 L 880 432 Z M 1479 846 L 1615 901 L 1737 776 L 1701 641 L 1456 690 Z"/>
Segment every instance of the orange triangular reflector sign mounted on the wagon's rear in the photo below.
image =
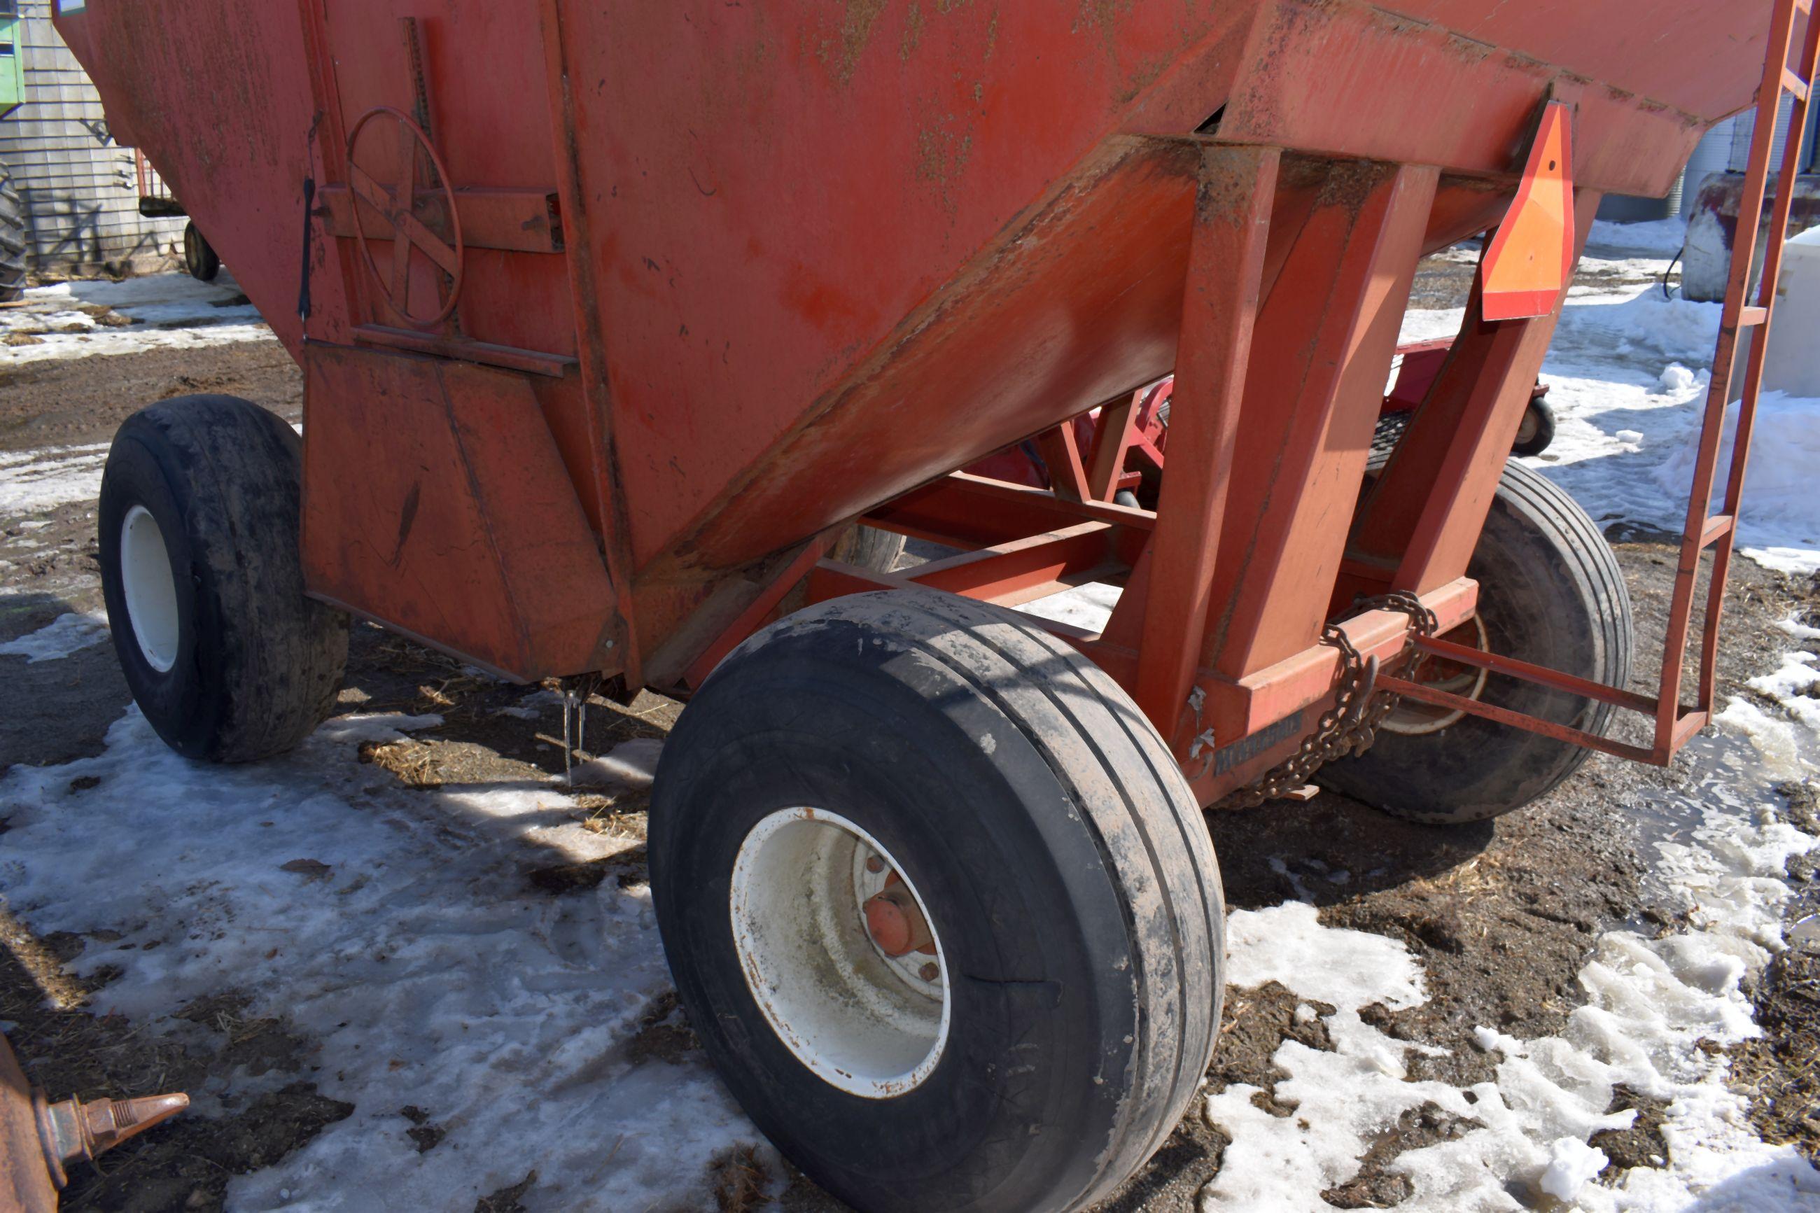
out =
<path fill-rule="evenodd" d="M 1485 251 L 1487 320 L 1554 311 L 1574 271 L 1574 176 L 1567 105 L 1549 102 L 1523 185 Z"/>

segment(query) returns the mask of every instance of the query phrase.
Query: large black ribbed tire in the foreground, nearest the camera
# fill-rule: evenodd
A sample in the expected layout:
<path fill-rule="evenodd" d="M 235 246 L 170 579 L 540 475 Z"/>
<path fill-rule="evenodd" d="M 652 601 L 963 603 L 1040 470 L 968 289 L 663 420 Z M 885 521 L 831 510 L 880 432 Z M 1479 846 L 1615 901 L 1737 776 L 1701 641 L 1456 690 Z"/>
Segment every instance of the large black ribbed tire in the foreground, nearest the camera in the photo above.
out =
<path fill-rule="evenodd" d="M 839 1009 L 855 1004 L 815 978 L 772 980 L 797 971 L 764 958 L 801 947 L 792 907 L 832 907 L 843 940 L 870 947 L 859 895 L 839 889 L 859 869 L 839 855 L 832 891 L 812 864 L 743 884 L 766 822 L 803 815 L 835 840 L 864 831 L 926 909 L 939 962 L 923 973 L 941 975 L 930 997 L 948 1011 L 937 1044 L 848 1064 L 828 1024 L 866 1020 Z M 1130 698 L 1014 613 L 888 591 L 748 640 L 664 746 L 650 866 L 677 989 L 721 1077 L 859 1209 L 1085 1208 L 1150 1157 L 1207 1069 L 1225 947 L 1199 807 Z M 781 909 L 739 926 L 763 889 Z M 794 1044 L 774 1002 L 801 1007 L 777 1011 Z"/>

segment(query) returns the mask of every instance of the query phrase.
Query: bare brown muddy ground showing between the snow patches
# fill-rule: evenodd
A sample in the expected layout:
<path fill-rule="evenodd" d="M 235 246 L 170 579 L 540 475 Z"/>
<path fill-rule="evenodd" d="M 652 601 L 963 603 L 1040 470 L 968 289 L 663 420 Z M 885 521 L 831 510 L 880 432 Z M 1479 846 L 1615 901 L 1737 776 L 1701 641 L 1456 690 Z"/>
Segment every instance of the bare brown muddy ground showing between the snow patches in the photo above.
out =
<path fill-rule="evenodd" d="M 1436 286 L 1434 296 L 1441 295 Z M 191 391 L 242 395 L 289 420 L 298 415 L 300 378 L 275 344 L 46 362 L 0 371 L 0 451 L 106 442 L 140 404 Z M 36 546 L 29 549 L 16 546 L 24 535 L 0 535 L 0 558 L 9 560 L 0 567 L 0 595 L 5 595 L 0 640 L 71 609 L 100 609 L 91 511 L 69 506 L 46 515 L 51 526 L 31 533 Z M 1651 655 L 1660 651 L 1674 549 L 1663 536 L 1614 531 L 1613 538 L 1620 540 L 1616 549 L 1636 607 L 1642 686 Z M 1740 562 L 1729 604 L 1722 693 L 1749 695 L 1742 682 L 1773 669 L 1787 646 L 1773 624 L 1791 613 L 1820 615 L 1820 589 Z M 0 658 L 0 769 L 98 753 L 107 726 L 127 704 L 106 644 L 36 666 Z M 524 715 L 499 715 L 500 707 L 521 704 Z M 448 658 L 373 627 L 355 629 L 342 706 L 444 717 L 437 729 L 362 755 L 408 786 L 522 780 L 562 769 L 562 720 L 551 697 L 475 678 Z M 677 711 L 677 704 L 652 695 L 630 707 L 601 700 L 592 713 L 588 749 L 599 753 L 617 740 L 662 737 Z M 1633 809 L 1653 789 L 1685 782 L 1685 766 L 1658 771 L 1594 755 L 1580 777 L 1531 809 L 1469 827 L 1400 822 L 1332 793 L 1309 804 L 1216 815 L 1208 826 L 1232 907 L 1267 907 L 1312 895 L 1325 922 L 1383 933 L 1418 953 L 1431 1000 L 1383 1015 L 1381 1026 L 1396 1037 L 1449 1049 L 1440 1058 L 1412 1055 L 1412 1075 L 1471 1082 L 1489 1078 L 1496 1060 L 1474 1048 L 1474 1026 L 1516 1037 L 1558 1031 L 1580 1000 L 1574 975 L 1598 933 L 1651 915 L 1667 918 L 1643 904 Z M 1791 787 L 1787 811 L 1791 820 L 1820 833 L 1813 789 Z M 637 793 L 584 800 L 577 815 L 592 829 L 642 837 L 644 802 Z M 4 818 L 0 804 L 0 835 Z M 584 895 L 608 878 L 628 884 L 644 878 L 641 847 L 593 866 L 546 864 L 528 860 L 524 877 L 550 897 Z M 1338 871 L 1350 878 L 1343 884 L 1327 878 Z M 1805 884 L 1796 913 L 1815 909 L 1820 909 L 1820 884 Z M 87 946 L 86 938 L 38 938 L 0 915 L 0 1020 L 25 1071 L 53 1095 L 189 1088 L 222 1098 L 220 1117 L 180 1118 L 109 1155 L 100 1169 L 80 1169 L 66 1208 L 146 1213 L 220 1208 L 233 1175 L 269 1166 L 351 1111 L 322 1097 L 309 1077 L 320 1046 L 293 1033 L 282 1018 L 251 1017 L 246 998 L 233 989 L 193 1004 L 180 1031 L 151 1035 L 84 1009 L 87 989 L 66 966 Z M 1820 1162 L 1820 1124 L 1805 1117 L 1820 1086 L 1816 966 L 1813 955 L 1789 953 L 1758 978 L 1767 1035 L 1738 1051 L 1734 1073 L 1756 1091 L 1760 1131 L 1771 1140 L 1800 1142 Z M 1320 1020 L 1296 1022 L 1296 1002 L 1274 986 L 1228 991 L 1212 1089 L 1249 1082 L 1270 1093 L 1278 1077 L 1270 1057 L 1285 1037 L 1323 1046 Z M 670 1007 L 659 1011 L 635 1042 L 637 1053 L 653 1058 L 692 1053 L 697 1046 L 688 1026 Z M 273 1073 L 286 1078 L 282 1088 L 237 1095 L 244 1075 Z M 420 1113 L 419 1146 L 433 1149 L 437 1129 L 430 1113 L 406 1111 Z M 1651 1128 L 1658 1109 L 1640 1106 L 1640 1111 L 1638 1128 L 1596 1142 L 1625 1166 L 1665 1153 Z M 1407 1117 L 1363 1160 L 1358 1178 L 1327 1193 L 1327 1200 L 1336 1208 L 1394 1206 L 1405 1195 L 1403 1180 L 1385 1166 L 1405 1149 L 1460 1131 L 1447 1117 Z M 1105 1209 L 1194 1209 L 1194 1197 L 1218 1171 L 1223 1148 L 1221 1133 L 1196 1109 Z M 480 1200 L 477 1213 L 519 1209 L 535 1184 L 528 1168 L 524 1182 Z M 779 1186 L 786 1209 L 843 1208 L 801 1175 L 766 1175 L 752 1153 L 723 1158 L 713 1186 L 723 1209 L 757 1208 L 761 1193 Z"/>

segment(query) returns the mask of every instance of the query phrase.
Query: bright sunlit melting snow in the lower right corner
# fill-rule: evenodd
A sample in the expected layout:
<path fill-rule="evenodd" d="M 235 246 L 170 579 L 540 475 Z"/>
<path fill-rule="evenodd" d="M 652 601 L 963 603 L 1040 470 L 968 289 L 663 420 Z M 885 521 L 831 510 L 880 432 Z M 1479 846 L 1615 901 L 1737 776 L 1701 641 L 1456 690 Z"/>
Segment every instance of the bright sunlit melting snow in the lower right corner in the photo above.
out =
<path fill-rule="evenodd" d="M 1398 1206 L 1410 1213 L 1516 1211 L 1547 1198 L 1587 1213 L 1820 1208 L 1820 1173 L 1793 1148 L 1756 1138 L 1744 1098 L 1725 1086 L 1724 1057 L 1700 1048 L 1758 1033 L 1740 980 L 1782 947 L 1784 869 L 1813 846 L 1747 806 L 1705 809 L 1691 842 L 1658 844 L 1654 867 L 1660 882 L 1682 889 L 1689 931 L 1602 937 L 1580 973 L 1587 1004 L 1565 1031 L 1516 1040 L 1481 1028 L 1480 1046 L 1503 1060 L 1494 1082 L 1471 1091 L 1409 1082 L 1401 1058 L 1410 1046 L 1358 1015 L 1374 1002 L 1396 1009 L 1425 998 L 1401 944 L 1321 927 L 1303 904 L 1234 913 L 1232 982 L 1278 980 L 1334 1006 L 1325 1015 L 1334 1051 L 1296 1040 L 1278 1048 L 1272 1060 L 1287 1078 L 1276 1097 L 1296 1106 L 1289 1117 L 1254 1106 L 1258 1091 L 1245 1084 L 1208 1098 L 1208 1120 L 1232 1144 L 1203 1191 L 1203 1213 L 1323 1211 L 1320 1193 L 1352 1178 L 1398 1117 L 1431 1102 L 1474 1124 L 1390 1164 L 1414 1184 Z M 1631 1111 L 1605 1111 L 1618 1084 L 1669 1102 L 1669 1158 L 1662 1169 L 1598 1180 L 1607 1158 L 1587 1138 L 1634 1120 Z"/>

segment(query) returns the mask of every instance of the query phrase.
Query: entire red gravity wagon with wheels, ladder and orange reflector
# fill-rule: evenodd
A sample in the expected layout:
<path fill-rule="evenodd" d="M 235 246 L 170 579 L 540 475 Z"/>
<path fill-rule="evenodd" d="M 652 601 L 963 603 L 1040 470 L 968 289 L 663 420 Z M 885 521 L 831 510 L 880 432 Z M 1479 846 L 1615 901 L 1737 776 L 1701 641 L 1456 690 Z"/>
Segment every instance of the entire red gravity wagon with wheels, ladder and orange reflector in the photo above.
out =
<path fill-rule="evenodd" d="M 752 1118 L 864 1209 L 1090 1206 L 1214 1048 L 1203 809 L 1483 820 L 1707 722 L 1773 293 L 1727 304 L 1654 695 L 1598 527 L 1507 460 L 1600 196 L 1805 113 L 1807 7 L 58 0 L 306 375 L 300 440 L 224 396 L 120 429 L 127 680 L 217 762 L 324 718 L 349 617 L 688 698 L 653 897 Z M 1418 260 L 1487 233 L 1374 455 Z M 1026 442 L 1043 487 L 959 471 Z M 1016 609 L 1083 582 L 1105 627 Z"/>

